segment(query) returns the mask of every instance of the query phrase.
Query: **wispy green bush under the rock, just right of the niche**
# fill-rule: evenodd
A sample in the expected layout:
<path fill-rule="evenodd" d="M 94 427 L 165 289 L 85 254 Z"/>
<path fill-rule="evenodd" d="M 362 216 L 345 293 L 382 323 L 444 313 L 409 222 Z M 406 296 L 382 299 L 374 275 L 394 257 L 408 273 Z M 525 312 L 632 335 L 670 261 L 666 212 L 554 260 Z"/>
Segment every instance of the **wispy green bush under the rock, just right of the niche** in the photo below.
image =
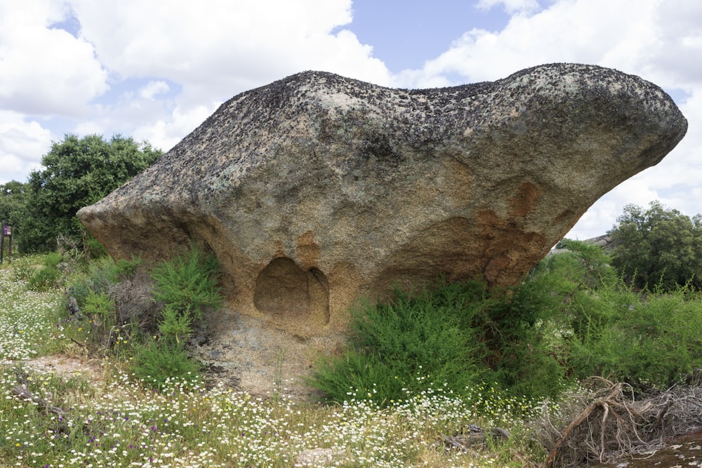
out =
<path fill-rule="evenodd" d="M 322 359 L 312 385 L 329 399 L 352 394 L 389 404 L 423 389 L 447 386 L 456 392 L 481 382 L 483 346 L 465 323 L 479 312 L 450 285 L 417 297 L 397 293 L 387 305 L 355 312 L 351 347 L 337 359 Z M 465 306 L 463 315 L 456 313 Z"/>

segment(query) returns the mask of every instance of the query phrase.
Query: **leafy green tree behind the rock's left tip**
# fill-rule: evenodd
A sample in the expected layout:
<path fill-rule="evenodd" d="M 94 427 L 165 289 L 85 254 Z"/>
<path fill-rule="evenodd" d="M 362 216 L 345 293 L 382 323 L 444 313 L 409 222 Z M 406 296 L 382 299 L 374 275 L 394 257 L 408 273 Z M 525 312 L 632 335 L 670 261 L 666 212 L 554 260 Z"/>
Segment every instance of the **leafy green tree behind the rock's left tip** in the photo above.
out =
<path fill-rule="evenodd" d="M 29 221 L 20 250 L 46 251 L 64 234 L 81 239 L 77 211 L 100 200 L 143 171 L 161 155 L 147 142 L 114 135 L 66 135 L 41 159 L 44 169 L 29 175 Z"/>

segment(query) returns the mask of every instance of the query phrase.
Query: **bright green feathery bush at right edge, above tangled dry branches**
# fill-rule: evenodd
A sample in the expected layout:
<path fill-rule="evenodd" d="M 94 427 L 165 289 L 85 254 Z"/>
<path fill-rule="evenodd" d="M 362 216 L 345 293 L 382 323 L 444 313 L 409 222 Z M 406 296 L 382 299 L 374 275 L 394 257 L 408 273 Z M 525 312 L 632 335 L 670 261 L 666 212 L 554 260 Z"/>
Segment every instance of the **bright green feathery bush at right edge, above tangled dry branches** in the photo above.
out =
<path fill-rule="evenodd" d="M 574 377 L 664 390 L 702 368 L 702 297 L 690 286 L 644 295 L 620 283 L 592 296 L 570 343 Z"/>

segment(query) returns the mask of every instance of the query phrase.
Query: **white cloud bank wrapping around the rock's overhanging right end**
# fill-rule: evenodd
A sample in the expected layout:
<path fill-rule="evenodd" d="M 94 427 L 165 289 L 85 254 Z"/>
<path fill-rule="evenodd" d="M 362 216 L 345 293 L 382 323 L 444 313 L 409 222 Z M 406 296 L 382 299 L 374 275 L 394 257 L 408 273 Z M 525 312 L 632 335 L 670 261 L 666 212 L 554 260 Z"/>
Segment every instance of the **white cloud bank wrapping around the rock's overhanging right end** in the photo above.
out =
<path fill-rule="evenodd" d="M 688 98 L 680 106 L 687 137 L 658 166 L 623 182 L 597 201 L 569 236 L 604 234 L 627 203 L 658 199 L 702 213 L 702 2 L 692 0 L 559 0 L 524 14 L 531 2 L 481 0 L 512 15 L 499 32 L 472 29 L 423 69 L 399 74 L 402 86 L 423 87 L 495 80 L 549 62 L 580 62 L 637 74 Z M 521 8 L 521 9 L 520 9 Z M 449 80 L 449 77 L 451 80 Z"/>

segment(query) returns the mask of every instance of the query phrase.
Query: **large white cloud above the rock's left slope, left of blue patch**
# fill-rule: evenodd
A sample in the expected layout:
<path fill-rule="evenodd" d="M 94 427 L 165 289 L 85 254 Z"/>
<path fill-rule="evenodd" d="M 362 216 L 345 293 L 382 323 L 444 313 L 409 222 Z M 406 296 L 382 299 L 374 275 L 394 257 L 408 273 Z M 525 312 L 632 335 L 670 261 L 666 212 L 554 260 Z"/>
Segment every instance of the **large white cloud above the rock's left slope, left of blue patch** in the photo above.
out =
<path fill-rule="evenodd" d="M 81 39 L 114 81 L 151 80 L 119 103 L 95 107 L 82 127 L 147 138 L 163 149 L 233 95 L 307 69 L 392 83 L 372 48 L 339 29 L 352 19 L 350 0 L 69 2 Z M 178 84 L 176 95 L 168 83 Z"/>

